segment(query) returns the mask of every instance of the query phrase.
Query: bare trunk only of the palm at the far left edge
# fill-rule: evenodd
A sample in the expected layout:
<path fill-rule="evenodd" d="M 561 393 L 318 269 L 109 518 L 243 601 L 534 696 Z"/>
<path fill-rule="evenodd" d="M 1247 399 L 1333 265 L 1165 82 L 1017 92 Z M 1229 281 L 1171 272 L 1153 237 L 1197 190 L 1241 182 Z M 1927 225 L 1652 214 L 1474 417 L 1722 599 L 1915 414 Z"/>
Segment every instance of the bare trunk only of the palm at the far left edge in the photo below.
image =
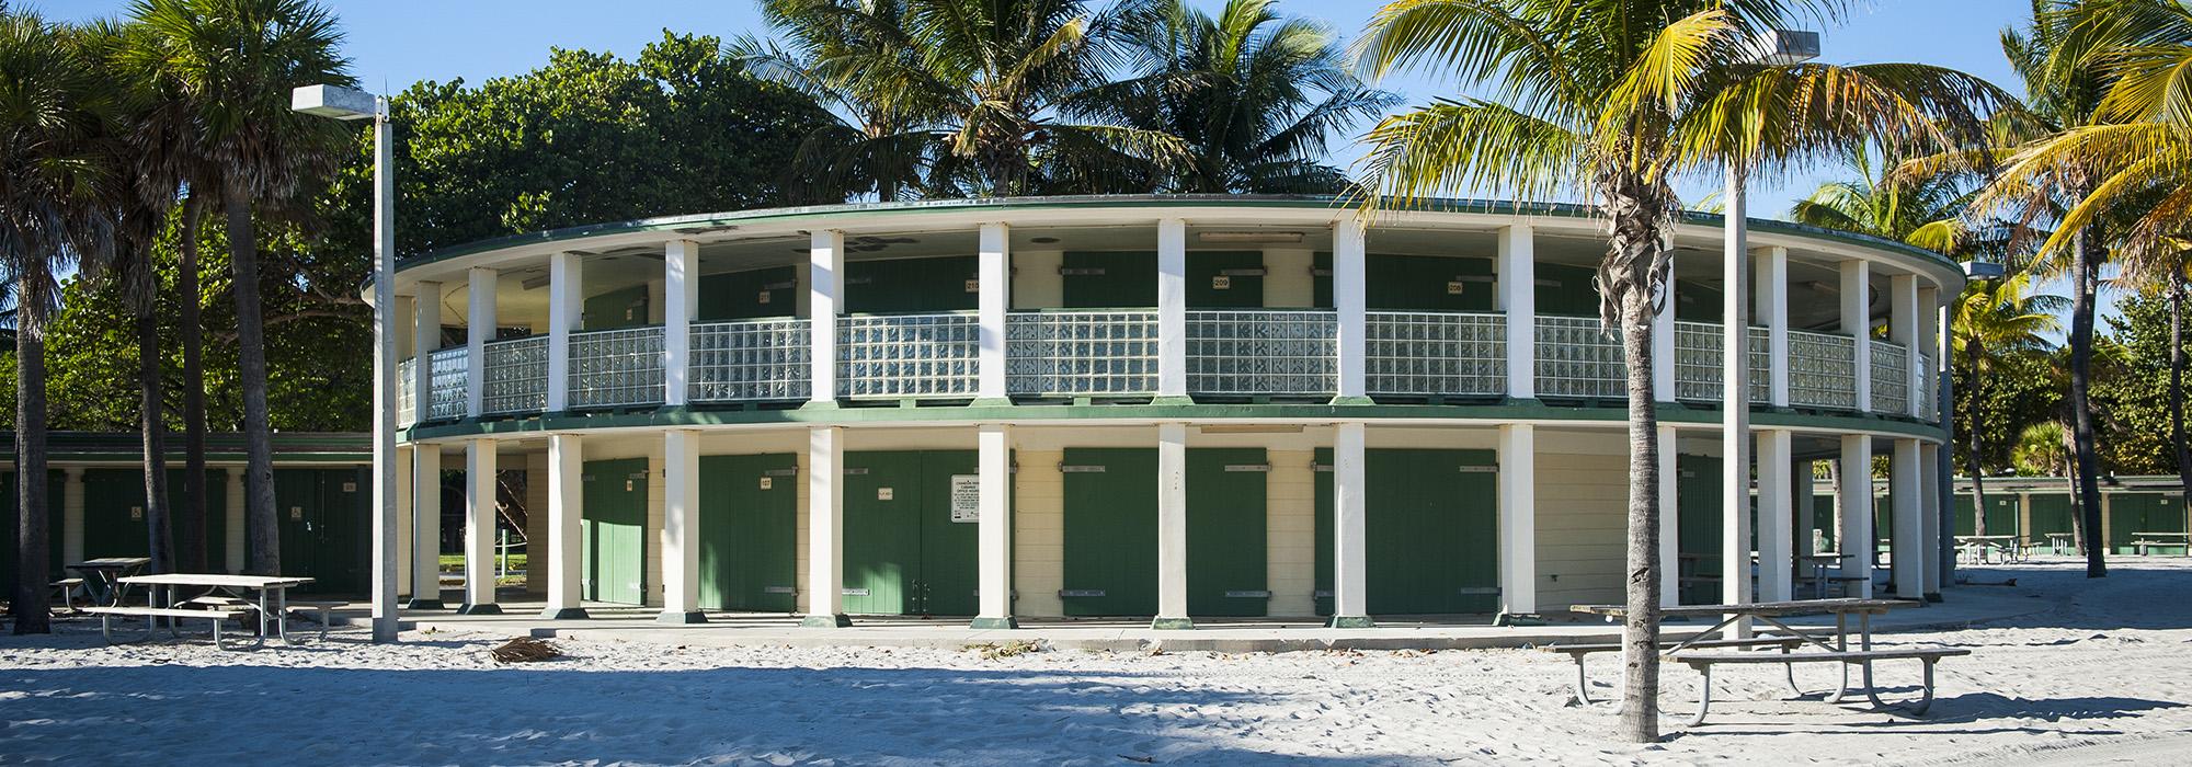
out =
<path fill-rule="evenodd" d="M 46 305 L 44 274 L 15 274 L 15 633 L 53 633 L 46 589 L 46 340 L 31 318 Z"/>

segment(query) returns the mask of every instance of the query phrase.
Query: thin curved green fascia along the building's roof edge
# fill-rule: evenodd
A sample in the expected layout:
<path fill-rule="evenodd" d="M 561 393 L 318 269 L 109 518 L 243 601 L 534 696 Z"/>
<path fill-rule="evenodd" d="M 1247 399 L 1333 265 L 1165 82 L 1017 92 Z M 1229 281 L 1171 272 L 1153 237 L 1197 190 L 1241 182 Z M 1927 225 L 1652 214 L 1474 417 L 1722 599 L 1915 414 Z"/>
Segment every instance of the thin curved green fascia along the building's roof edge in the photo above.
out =
<path fill-rule="evenodd" d="M 796 219 L 818 219 L 818 217 L 846 219 L 846 217 L 899 215 L 916 210 L 954 213 L 969 208 L 982 208 L 982 210 L 1149 208 L 1149 206 L 1348 208 L 1352 204 L 1355 204 L 1352 197 L 1331 197 L 1331 195 L 1061 195 L 1061 197 L 978 197 L 978 199 L 921 199 L 921 202 L 870 202 L 870 204 L 798 206 L 798 208 L 756 208 L 756 210 L 695 213 L 695 215 L 633 219 L 633 221 L 605 221 L 605 224 L 544 230 L 544 232 L 493 237 L 463 245 L 430 250 L 423 254 L 401 256 L 397 259 L 397 272 L 430 265 L 436 261 L 471 256 L 504 248 L 520 248 L 520 245 L 544 245 L 544 243 L 574 241 L 587 237 L 638 234 L 638 232 L 673 232 L 673 234 L 699 237 L 726 228 L 737 228 L 739 224 L 796 221 Z M 1594 206 L 1580 206 L 1567 202 L 1499 202 L 1499 199 L 1449 199 L 1449 197 L 1418 199 L 1409 204 L 1385 199 L 1381 202 L 1381 210 L 1537 215 L 1537 217 L 1572 217 L 1572 219 L 1589 219 L 1598 215 Z M 1679 221 L 1692 226 L 1725 226 L 1727 217 L 1719 213 L 1683 210 Z M 1887 250 L 1922 259 L 1933 265 L 1962 270 L 1953 259 L 1940 252 L 1909 243 L 1898 243 L 1892 239 L 1841 232 L 1819 226 L 1804 226 L 1793 221 L 1778 221 L 1778 219 L 1747 219 L 1747 221 L 1749 228 L 1756 232 L 1797 234 L 1797 237 L 1837 241 L 1872 250 Z"/>

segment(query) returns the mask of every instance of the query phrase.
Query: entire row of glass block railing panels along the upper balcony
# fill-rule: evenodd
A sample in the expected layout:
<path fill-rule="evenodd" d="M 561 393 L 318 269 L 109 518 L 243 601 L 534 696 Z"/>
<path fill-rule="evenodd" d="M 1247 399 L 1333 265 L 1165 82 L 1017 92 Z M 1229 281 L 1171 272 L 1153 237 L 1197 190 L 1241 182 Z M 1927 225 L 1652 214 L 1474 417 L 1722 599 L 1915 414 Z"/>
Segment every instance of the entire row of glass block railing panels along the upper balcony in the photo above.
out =
<path fill-rule="evenodd" d="M 1449 401 L 1506 394 L 1506 316 L 1471 311 L 1368 311 L 1366 390 L 1379 399 Z M 1157 311 L 1015 311 L 1006 318 L 1006 390 L 1021 401 L 1146 401 L 1157 392 Z M 1333 311 L 1234 309 L 1186 313 L 1186 386 L 1203 399 L 1324 401 L 1337 394 L 1339 322 Z M 1751 401 L 1767 401 L 1767 331 L 1749 329 Z M 1675 399 L 1719 403 L 1721 327 L 1675 322 Z M 1911 355 L 1865 340 L 1872 410 L 1911 408 Z M 1620 342 L 1596 318 L 1539 316 L 1537 397 L 1618 403 L 1626 394 Z M 973 313 L 837 318 L 837 397 L 846 401 L 964 403 L 978 392 L 980 327 Z M 664 331 L 638 327 L 570 335 L 570 410 L 660 408 Z M 1918 355 L 1920 366 L 1931 359 Z M 399 366 L 399 421 L 460 421 L 471 359 L 463 346 Z M 484 344 L 482 414 L 526 416 L 548 408 L 548 337 Z M 1929 379 L 1929 377 L 1927 377 Z M 809 320 L 697 322 L 690 327 L 688 401 L 695 405 L 800 403 L 811 397 Z M 1857 410 L 1857 340 L 1789 333 L 1789 403 Z M 1931 386 L 1918 392 L 1931 419 Z M 423 419 L 416 410 L 423 408 Z"/>

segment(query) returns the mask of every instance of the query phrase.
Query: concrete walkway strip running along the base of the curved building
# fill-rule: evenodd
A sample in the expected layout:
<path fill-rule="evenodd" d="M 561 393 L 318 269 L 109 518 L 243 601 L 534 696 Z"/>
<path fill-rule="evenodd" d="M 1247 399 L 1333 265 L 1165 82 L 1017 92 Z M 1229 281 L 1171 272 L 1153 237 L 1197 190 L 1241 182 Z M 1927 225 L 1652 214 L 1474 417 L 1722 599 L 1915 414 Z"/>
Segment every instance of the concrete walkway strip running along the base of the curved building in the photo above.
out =
<path fill-rule="evenodd" d="M 1372 629 L 1326 629 L 1309 618 L 1217 618 L 1195 631 L 1155 631 L 1144 620 L 1026 620 L 1019 629 L 969 629 L 964 618 L 864 618 L 846 629 L 802 629 L 785 614 L 708 614 L 706 625 L 662 625 L 658 609 L 629 605 L 585 605 L 587 620 L 539 618 L 541 603 L 504 603 L 502 616 L 456 616 L 452 611 L 406 611 L 406 631 L 487 631 L 535 638 L 585 638 L 612 642 L 664 642 L 690 646 L 945 646 L 980 642 L 1043 640 L 1054 649 L 1087 651 L 1217 651 L 1285 653 L 1324 649 L 1502 649 L 1552 642 L 1616 642 L 1620 625 L 1596 618 L 1548 616 L 1543 627 L 1493 627 L 1488 616 L 1453 620 L 1381 620 Z M 2014 589 L 1955 587 L 1942 603 L 1896 609 L 1872 620 L 1874 631 L 1960 629 L 2047 609 L 2043 600 Z M 351 605 L 340 622 L 364 622 L 364 605 Z M 1833 618 L 1797 618 L 1795 627 L 1830 629 Z M 1668 638 L 1692 636 L 1708 622 L 1668 622 Z"/>

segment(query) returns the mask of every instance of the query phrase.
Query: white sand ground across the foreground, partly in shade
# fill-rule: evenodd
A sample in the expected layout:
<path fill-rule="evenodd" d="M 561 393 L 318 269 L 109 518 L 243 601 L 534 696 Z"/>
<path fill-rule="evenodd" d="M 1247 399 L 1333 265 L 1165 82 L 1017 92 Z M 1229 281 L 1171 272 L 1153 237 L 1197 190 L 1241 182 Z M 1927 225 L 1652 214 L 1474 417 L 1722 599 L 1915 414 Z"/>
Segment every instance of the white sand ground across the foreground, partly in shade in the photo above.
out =
<path fill-rule="evenodd" d="M 219 653 L 202 638 L 103 646 L 96 622 L 0 638 L 7 763 L 2188 763 L 2192 561 L 1977 570 L 2052 605 L 1997 627 L 1890 636 L 1973 649 L 1927 719 L 1786 699 L 1778 666 L 1668 666 L 1666 743 L 1609 736 L 1569 664 L 1534 651 L 1138 655 L 984 662 L 929 649 L 673 649 L 559 642 L 498 666 L 500 636 L 406 636 Z M 1951 592 L 1953 598 L 1953 592 Z M 1594 677 L 1611 697 L 1613 662 Z M 1830 666 L 1800 666 L 1824 688 Z M 1883 664 L 1887 697 L 1918 668 Z"/>

